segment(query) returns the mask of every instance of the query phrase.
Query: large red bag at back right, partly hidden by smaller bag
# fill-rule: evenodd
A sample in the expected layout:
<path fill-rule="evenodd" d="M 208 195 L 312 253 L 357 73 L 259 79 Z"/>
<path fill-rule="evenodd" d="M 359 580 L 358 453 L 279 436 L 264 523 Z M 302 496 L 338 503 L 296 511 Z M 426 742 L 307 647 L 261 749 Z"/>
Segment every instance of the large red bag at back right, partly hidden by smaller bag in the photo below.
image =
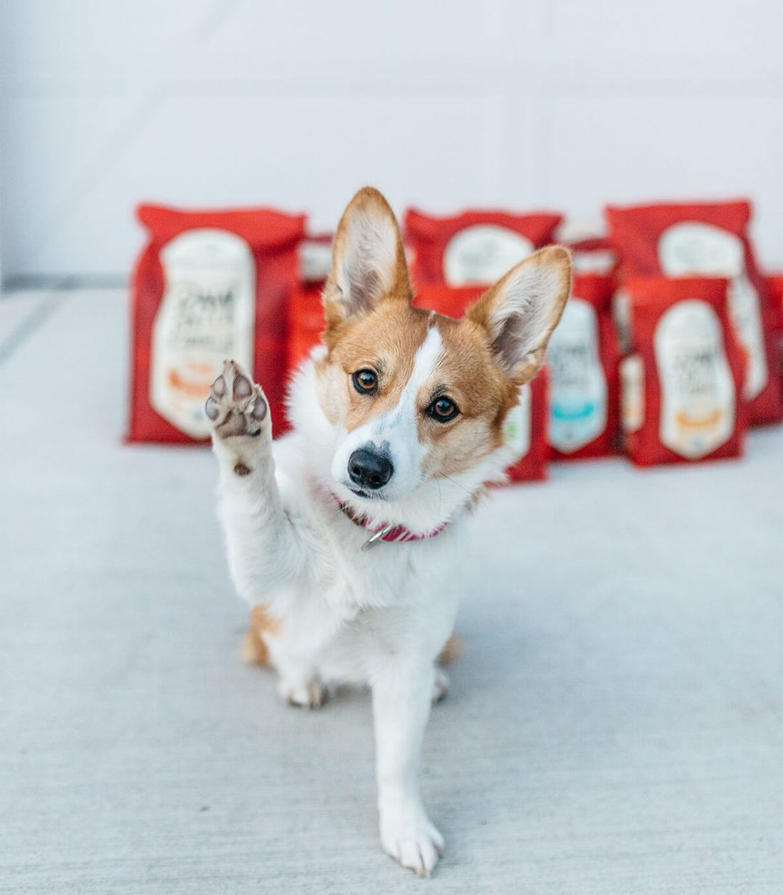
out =
<path fill-rule="evenodd" d="M 749 422 L 783 419 L 780 383 L 772 375 L 775 353 L 770 295 L 748 239 L 747 201 L 608 208 L 620 278 L 727 277 L 728 309 L 747 370 L 743 397 Z"/>

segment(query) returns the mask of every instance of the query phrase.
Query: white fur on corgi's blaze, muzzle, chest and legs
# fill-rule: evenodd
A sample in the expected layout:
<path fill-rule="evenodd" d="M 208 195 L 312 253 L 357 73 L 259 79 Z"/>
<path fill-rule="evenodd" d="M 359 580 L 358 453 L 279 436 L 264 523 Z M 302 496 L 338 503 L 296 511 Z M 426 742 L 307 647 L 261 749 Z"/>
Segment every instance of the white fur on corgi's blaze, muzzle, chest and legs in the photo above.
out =
<path fill-rule="evenodd" d="M 367 433 L 388 439 L 396 460 L 416 439 L 414 396 L 441 350 L 431 328 L 399 404 Z M 335 452 L 345 437 L 321 410 L 315 385 L 308 361 L 294 380 L 292 434 L 272 443 L 267 418 L 259 437 L 213 437 L 229 567 L 243 599 L 265 604 L 281 621 L 268 648 L 286 700 L 314 707 L 335 682 L 372 688 L 381 842 L 402 865 L 429 875 L 443 838 L 421 802 L 419 763 L 430 700 L 445 686 L 435 660 L 456 613 L 447 570 L 458 571 L 463 555 L 465 505 L 483 482 L 502 477 L 508 455 L 498 450 L 451 481 L 421 482 L 420 471 L 407 495 L 371 501 L 379 521 L 421 531 L 450 524 L 433 538 L 363 551 L 370 533 L 333 495 L 340 488 Z M 415 451 L 410 462 L 417 463 Z M 237 474 L 238 463 L 251 472 Z M 367 510 L 367 501 L 353 500 L 357 512 Z"/>

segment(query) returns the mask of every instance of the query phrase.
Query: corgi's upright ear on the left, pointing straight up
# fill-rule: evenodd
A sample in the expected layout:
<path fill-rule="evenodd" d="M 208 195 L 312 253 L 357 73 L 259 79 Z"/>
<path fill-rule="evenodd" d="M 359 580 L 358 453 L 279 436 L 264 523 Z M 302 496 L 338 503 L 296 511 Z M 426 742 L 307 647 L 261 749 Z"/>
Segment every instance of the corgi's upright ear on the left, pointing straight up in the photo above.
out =
<path fill-rule="evenodd" d="M 324 289 L 329 326 L 370 311 L 386 299 L 411 301 L 403 240 L 394 212 L 370 186 L 356 193 L 340 219 L 332 270 Z"/>

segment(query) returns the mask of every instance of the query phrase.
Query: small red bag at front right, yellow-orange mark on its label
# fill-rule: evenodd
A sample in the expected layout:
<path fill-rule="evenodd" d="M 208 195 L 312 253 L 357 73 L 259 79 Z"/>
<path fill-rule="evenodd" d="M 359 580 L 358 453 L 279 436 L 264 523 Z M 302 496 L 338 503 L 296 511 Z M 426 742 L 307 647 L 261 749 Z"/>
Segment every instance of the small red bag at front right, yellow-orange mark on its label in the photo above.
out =
<path fill-rule="evenodd" d="M 633 350 L 621 363 L 628 455 L 649 466 L 740 456 L 745 354 L 728 315 L 728 280 L 626 284 Z"/>

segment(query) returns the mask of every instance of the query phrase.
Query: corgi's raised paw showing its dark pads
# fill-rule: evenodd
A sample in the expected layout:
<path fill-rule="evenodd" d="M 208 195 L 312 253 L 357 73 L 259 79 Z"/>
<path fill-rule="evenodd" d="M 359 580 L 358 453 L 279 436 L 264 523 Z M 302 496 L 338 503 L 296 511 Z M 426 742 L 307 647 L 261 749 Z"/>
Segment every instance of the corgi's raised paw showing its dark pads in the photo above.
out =
<path fill-rule="evenodd" d="M 267 399 L 261 387 L 234 361 L 223 364 L 223 372 L 209 389 L 204 412 L 218 439 L 258 438 L 269 425 Z"/>

